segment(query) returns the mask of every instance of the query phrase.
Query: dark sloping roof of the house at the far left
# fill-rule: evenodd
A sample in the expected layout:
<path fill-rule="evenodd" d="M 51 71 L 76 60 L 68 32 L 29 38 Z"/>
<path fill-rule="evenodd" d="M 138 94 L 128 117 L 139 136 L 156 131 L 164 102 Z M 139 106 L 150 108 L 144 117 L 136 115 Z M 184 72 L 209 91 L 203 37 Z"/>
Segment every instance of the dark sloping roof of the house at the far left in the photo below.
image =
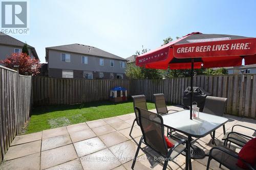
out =
<path fill-rule="evenodd" d="M 5 33 L 2 33 L 0 32 L 0 44 L 3 44 L 3 45 L 9 45 L 9 46 L 19 46 L 19 47 L 23 47 L 24 46 L 24 42 L 22 41 L 19 41 Z M 33 53 L 33 56 L 36 58 L 36 59 L 39 59 L 38 58 L 38 55 L 35 51 L 35 48 L 33 46 L 30 46 L 29 44 L 27 44 L 28 48 L 31 48 L 31 52 Z"/>

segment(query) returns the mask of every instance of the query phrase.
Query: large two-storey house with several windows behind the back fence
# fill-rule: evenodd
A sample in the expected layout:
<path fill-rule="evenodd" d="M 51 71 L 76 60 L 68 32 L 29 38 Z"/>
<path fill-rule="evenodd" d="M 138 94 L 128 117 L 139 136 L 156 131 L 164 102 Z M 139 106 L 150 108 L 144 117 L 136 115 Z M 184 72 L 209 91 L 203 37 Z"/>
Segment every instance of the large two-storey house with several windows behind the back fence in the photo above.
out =
<path fill-rule="evenodd" d="M 99 48 L 69 44 L 46 47 L 49 77 L 123 79 L 126 59 Z"/>

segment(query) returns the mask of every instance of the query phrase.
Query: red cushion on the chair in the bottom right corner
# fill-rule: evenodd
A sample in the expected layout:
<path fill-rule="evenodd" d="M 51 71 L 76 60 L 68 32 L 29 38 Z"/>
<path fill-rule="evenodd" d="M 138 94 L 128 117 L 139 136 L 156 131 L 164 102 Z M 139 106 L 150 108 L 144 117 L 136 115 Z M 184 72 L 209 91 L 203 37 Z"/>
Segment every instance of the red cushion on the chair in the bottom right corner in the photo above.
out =
<path fill-rule="evenodd" d="M 256 163 L 256 137 L 249 140 L 241 151 L 238 153 L 239 158 L 243 159 L 247 163 L 251 164 L 253 167 Z M 243 169 L 246 169 L 247 166 L 241 161 L 238 160 L 237 165 Z"/>

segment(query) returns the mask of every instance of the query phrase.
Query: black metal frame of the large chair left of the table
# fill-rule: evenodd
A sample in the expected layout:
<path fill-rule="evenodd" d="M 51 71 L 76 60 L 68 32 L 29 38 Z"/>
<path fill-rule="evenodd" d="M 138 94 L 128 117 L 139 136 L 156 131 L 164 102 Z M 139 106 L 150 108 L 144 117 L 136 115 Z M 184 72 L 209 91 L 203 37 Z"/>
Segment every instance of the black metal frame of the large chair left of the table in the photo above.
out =
<path fill-rule="evenodd" d="M 141 122 L 141 113 L 140 113 L 140 109 L 141 108 L 135 107 L 135 109 L 139 113 L 139 121 Z M 160 114 L 157 114 L 157 116 L 161 119 L 162 136 L 164 136 L 163 118 L 162 118 L 162 116 Z M 143 117 L 143 118 L 145 118 L 145 117 Z M 150 119 L 148 119 L 148 120 L 150 120 Z M 159 124 L 158 122 L 155 122 L 154 120 L 150 120 L 150 121 Z M 138 144 L 138 148 L 137 148 L 136 153 L 135 153 L 134 161 L 133 161 L 133 164 L 132 164 L 132 169 L 134 169 L 134 166 L 135 166 L 135 163 L 136 163 L 136 159 L 137 159 L 138 154 L 139 154 L 139 150 L 141 149 L 143 151 L 143 148 L 141 148 L 141 143 L 144 143 L 147 147 L 151 148 L 153 151 L 155 151 L 156 153 L 158 153 L 159 155 L 161 155 L 164 158 L 163 170 L 165 170 L 167 168 L 168 161 L 172 161 L 172 159 L 176 158 L 181 152 L 186 150 L 186 148 L 184 148 L 184 150 L 180 151 L 179 154 L 177 154 L 175 157 L 173 157 L 173 158 L 170 157 L 170 155 L 175 150 L 175 148 L 177 148 L 180 144 L 187 144 L 187 140 L 182 139 L 182 140 L 178 141 L 174 145 L 174 147 L 170 148 L 166 155 L 163 155 L 161 152 L 155 150 L 150 144 L 147 143 L 147 141 L 144 139 L 145 134 L 144 134 L 143 127 L 140 126 L 140 128 L 141 128 L 141 131 L 142 131 L 142 136 L 140 138 L 140 141 L 139 141 L 139 144 Z M 163 138 L 163 140 L 164 140 L 164 138 Z M 165 142 L 165 140 L 164 140 L 164 142 Z M 166 142 L 165 142 L 165 147 L 166 147 L 166 150 L 168 150 Z M 187 151 L 186 151 L 186 154 L 187 154 Z M 187 164 L 187 161 L 186 161 L 186 164 Z"/>

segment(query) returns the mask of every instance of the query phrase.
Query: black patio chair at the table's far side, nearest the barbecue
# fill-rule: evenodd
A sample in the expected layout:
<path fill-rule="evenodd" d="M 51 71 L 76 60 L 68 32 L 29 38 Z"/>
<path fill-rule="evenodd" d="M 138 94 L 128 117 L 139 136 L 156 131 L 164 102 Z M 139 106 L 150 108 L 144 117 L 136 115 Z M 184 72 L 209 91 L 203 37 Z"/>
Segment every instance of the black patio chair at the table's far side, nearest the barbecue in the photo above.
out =
<path fill-rule="evenodd" d="M 175 111 L 175 112 L 178 111 L 178 110 L 167 109 L 163 93 L 153 94 L 153 95 L 155 96 L 155 106 L 158 114 L 169 114 L 169 111 Z"/>

